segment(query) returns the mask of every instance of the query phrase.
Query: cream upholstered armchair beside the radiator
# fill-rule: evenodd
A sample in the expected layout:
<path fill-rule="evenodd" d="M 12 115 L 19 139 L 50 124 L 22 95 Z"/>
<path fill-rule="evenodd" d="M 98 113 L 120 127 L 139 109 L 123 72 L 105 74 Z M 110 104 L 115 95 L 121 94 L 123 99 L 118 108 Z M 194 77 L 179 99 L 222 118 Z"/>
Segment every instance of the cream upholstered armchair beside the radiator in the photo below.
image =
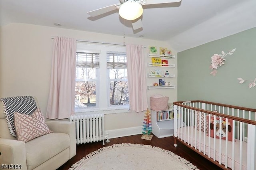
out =
<path fill-rule="evenodd" d="M 46 124 L 52 133 L 25 143 L 10 135 L 2 108 L 0 102 L 0 165 L 22 170 L 56 170 L 76 155 L 74 122 L 48 121 Z"/>

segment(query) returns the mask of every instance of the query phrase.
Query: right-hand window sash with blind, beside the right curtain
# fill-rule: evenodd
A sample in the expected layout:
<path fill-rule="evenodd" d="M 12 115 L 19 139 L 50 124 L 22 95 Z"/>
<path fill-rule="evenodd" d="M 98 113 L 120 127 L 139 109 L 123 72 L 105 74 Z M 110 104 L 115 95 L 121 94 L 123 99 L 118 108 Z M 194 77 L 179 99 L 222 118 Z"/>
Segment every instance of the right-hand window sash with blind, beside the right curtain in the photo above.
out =
<path fill-rule="evenodd" d="M 107 52 L 110 105 L 128 105 L 128 79 L 126 53 Z"/>

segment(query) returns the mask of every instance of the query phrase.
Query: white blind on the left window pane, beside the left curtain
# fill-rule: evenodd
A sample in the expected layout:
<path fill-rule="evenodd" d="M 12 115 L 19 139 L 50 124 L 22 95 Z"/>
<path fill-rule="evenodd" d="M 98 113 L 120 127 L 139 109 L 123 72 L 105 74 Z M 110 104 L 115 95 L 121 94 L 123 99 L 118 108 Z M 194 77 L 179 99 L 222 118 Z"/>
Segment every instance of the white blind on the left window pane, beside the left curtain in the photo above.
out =
<path fill-rule="evenodd" d="M 76 67 L 100 68 L 100 54 L 76 52 Z"/>

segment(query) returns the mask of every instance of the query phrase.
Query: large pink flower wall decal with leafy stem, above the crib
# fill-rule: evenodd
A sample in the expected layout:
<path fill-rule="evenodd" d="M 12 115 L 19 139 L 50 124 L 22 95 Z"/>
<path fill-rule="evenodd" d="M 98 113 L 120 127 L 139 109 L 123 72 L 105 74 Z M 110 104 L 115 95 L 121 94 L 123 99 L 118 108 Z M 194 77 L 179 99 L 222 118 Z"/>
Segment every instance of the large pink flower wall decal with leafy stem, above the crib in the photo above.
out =
<path fill-rule="evenodd" d="M 228 53 L 221 51 L 221 54 L 214 54 L 212 56 L 212 62 L 210 65 L 210 69 L 212 69 L 212 72 L 210 74 L 215 76 L 217 73 L 217 69 L 223 64 L 225 64 L 224 61 L 226 61 L 226 59 L 224 59 L 224 57 L 228 54 L 232 55 L 234 51 L 236 51 L 236 48 L 232 49 L 232 51 L 229 51 Z"/>

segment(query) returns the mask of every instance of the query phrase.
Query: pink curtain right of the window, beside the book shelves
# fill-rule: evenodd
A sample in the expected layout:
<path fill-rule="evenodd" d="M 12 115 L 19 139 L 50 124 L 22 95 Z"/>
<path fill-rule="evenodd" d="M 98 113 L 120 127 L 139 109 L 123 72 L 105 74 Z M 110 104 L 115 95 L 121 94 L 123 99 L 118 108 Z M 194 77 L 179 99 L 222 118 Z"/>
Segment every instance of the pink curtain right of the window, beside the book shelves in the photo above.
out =
<path fill-rule="evenodd" d="M 130 110 L 145 111 L 148 103 L 143 46 L 127 44 L 126 55 Z"/>

